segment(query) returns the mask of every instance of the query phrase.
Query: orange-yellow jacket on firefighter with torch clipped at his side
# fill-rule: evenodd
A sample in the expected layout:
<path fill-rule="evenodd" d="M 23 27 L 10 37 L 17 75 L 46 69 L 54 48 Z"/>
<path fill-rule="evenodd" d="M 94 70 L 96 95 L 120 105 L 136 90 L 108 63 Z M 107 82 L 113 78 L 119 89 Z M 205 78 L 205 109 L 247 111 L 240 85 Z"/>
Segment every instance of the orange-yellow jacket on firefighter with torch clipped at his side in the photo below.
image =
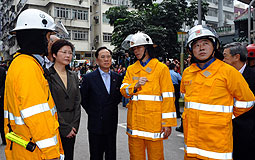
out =
<path fill-rule="evenodd" d="M 18 55 L 18 56 L 17 56 Z M 5 82 L 4 130 L 8 123 L 17 135 L 36 143 L 33 152 L 7 140 L 7 160 L 41 160 L 63 154 L 57 110 L 41 65 L 29 55 L 17 53 Z"/>

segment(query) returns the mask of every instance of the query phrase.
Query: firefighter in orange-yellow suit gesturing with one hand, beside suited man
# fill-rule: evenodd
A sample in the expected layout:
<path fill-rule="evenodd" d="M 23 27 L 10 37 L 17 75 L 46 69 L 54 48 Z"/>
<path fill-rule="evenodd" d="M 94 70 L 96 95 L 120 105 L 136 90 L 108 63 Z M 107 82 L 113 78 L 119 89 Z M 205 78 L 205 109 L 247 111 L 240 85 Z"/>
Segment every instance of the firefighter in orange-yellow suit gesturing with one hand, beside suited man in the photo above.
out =
<path fill-rule="evenodd" d="M 129 66 L 121 93 L 130 98 L 127 134 L 131 160 L 163 160 L 163 139 L 177 125 L 174 87 L 169 69 L 155 57 L 153 42 L 144 33 L 134 34 L 130 49 L 138 59 Z"/>

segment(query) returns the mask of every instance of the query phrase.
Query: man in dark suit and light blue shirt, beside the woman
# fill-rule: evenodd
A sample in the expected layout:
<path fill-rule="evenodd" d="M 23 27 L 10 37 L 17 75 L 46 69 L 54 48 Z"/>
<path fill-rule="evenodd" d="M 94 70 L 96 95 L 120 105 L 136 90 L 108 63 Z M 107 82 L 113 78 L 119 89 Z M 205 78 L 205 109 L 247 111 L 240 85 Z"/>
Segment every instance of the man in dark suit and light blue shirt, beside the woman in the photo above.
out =
<path fill-rule="evenodd" d="M 91 160 L 116 160 L 118 104 L 121 101 L 122 78 L 111 72 L 112 52 L 106 47 L 97 49 L 99 68 L 83 77 L 82 107 L 88 114 Z"/>

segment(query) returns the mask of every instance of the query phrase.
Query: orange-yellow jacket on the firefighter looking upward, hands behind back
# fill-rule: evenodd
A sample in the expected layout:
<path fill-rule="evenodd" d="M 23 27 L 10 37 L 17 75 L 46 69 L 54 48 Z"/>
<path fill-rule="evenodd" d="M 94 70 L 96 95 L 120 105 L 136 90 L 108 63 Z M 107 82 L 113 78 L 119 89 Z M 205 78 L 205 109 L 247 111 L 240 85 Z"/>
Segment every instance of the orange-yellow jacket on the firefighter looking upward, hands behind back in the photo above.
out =
<path fill-rule="evenodd" d="M 251 109 L 254 95 L 232 66 L 216 59 L 206 69 L 196 64 L 185 69 L 182 115 L 185 153 L 199 159 L 232 159 L 232 116 Z"/>

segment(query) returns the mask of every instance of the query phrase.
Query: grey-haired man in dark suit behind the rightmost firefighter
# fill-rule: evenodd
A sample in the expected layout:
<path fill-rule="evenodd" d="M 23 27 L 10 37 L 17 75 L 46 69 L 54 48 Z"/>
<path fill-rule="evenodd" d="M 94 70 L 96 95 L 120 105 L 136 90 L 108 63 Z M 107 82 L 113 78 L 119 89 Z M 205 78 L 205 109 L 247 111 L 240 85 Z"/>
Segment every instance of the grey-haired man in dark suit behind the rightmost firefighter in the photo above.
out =
<path fill-rule="evenodd" d="M 255 70 L 246 64 L 247 49 L 239 42 L 224 46 L 223 61 L 242 73 L 253 94 L 255 93 Z M 233 119 L 233 159 L 247 160 L 253 156 L 255 148 L 255 110 L 254 107 Z"/>

